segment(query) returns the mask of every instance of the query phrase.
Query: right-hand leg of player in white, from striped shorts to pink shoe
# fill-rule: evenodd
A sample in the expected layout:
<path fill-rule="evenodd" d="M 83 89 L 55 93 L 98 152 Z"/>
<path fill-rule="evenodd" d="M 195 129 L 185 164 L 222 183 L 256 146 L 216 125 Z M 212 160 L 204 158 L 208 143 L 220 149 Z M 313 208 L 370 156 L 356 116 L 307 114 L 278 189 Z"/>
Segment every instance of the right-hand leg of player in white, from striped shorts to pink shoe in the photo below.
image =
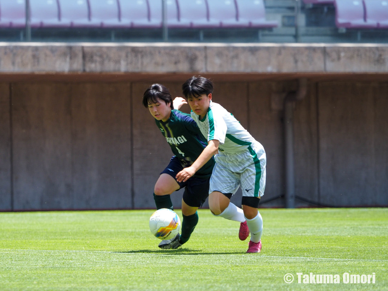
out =
<path fill-rule="evenodd" d="M 261 144 L 248 147 L 252 162 L 241 173 L 242 210 L 248 228 L 251 232 L 247 253 L 258 253 L 261 250 L 261 236 L 263 232 L 263 218 L 258 211 L 260 197 L 265 189 L 266 156 Z"/>

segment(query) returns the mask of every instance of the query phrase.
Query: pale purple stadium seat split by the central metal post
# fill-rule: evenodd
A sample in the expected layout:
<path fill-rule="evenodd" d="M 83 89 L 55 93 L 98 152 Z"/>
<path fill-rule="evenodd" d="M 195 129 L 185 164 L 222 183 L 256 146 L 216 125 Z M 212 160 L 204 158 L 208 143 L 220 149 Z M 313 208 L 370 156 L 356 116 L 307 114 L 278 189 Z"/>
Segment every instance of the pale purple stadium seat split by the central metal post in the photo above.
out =
<path fill-rule="evenodd" d="M 161 0 L 148 0 L 150 22 L 156 27 L 162 27 L 162 1 Z M 166 0 L 167 4 L 167 25 L 178 26 L 178 7 L 176 0 Z"/>

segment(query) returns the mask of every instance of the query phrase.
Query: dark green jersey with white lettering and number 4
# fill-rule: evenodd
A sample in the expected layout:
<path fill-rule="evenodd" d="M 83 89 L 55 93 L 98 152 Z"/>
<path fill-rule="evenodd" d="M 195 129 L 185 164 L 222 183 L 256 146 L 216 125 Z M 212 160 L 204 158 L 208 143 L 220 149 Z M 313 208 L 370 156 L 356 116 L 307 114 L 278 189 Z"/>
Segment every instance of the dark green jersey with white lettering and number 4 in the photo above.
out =
<path fill-rule="evenodd" d="M 166 122 L 156 119 L 155 121 L 184 168 L 191 166 L 207 146 L 206 138 L 190 114 L 173 109 Z M 214 158 L 211 158 L 193 177 L 210 177 L 214 164 Z"/>

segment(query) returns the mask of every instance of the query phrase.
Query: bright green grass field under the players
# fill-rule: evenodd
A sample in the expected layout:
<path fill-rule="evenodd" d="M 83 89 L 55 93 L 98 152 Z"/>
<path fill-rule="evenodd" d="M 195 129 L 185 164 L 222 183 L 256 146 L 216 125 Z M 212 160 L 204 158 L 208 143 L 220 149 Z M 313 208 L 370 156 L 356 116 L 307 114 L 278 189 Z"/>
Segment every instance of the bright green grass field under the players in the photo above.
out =
<path fill-rule="evenodd" d="M 259 254 L 245 253 L 239 223 L 209 210 L 182 249 L 160 250 L 152 212 L 0 213 L 0 291 L 388 290 L 388 209 L 262 209 Z M 298 284 L 297 272 L 341 282 Z M 345 284 L 344 272 L 376 283 Z"/>

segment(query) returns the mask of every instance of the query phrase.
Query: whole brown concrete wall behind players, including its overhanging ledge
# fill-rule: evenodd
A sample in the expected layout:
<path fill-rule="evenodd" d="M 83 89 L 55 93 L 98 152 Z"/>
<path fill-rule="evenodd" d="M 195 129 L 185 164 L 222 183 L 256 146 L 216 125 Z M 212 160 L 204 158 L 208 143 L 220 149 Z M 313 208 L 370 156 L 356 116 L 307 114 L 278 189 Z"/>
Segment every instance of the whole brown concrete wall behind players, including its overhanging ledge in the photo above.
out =
<path fill-rule="evenodd" d="M 142 94 L 159 82 L 179 96 L 193 74 L 215 78 L 215 101 L 264 145 L 263 202 L 284 194 L 272 94 L 308 78 L 294 111 L 296 195 L 388 205 L 388 45 L 0 43 L 0 210 L 154 208 L 171 151 Z"/>

